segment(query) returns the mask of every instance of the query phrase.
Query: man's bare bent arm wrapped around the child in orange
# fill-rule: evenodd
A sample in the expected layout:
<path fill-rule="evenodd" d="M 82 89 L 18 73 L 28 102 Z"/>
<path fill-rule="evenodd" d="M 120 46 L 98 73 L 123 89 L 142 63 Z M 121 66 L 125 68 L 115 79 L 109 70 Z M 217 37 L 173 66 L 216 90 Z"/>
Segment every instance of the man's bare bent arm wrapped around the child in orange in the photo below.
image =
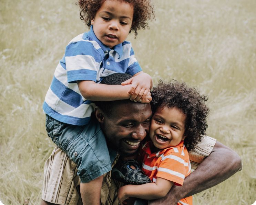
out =
<path fill-rule="evenodd" d="M 242 162 L 238 154 L 217 141 L 211 154 L 185 178 L 183 186 L 173 185 L 165 197 L 149 201 L 149 205 L 167 204 L 167 202 L 177 205 L 180 199 L 209 189 L 241 169 Z"/>

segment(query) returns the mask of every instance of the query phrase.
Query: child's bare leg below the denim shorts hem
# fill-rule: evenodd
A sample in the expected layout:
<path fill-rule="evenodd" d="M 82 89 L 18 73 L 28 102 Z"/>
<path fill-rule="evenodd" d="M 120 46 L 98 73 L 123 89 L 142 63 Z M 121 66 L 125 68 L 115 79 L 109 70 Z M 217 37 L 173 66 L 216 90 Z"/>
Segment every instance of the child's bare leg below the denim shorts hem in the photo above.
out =
<path fill-rule="evenodd" d="M 101 186 L 103 181 L 103 175 L 88 182 L 80 184 L 80 193 L 82 202 L 84 205 L 87 204 L 100 204 Z"/>

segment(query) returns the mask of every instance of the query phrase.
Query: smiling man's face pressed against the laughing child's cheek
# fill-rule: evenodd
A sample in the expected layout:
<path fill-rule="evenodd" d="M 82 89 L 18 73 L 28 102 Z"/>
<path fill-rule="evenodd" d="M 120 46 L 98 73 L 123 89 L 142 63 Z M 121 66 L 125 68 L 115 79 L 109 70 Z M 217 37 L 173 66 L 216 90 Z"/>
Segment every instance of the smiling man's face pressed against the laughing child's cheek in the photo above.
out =
<path fill-rule="evenodd" d="M 149 132 L 152 115 L 149 103 L 116 101 L 111 116 L 104 115 L 102 130 L 108 146 L 122 156 L 132 156 Z"/>

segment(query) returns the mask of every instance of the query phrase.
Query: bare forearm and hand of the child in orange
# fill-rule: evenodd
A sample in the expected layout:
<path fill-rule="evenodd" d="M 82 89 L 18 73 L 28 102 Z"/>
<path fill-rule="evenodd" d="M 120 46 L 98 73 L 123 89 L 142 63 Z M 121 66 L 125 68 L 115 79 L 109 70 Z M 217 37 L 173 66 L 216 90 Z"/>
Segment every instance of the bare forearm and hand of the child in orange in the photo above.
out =
<path fill-rule="evenodd" d="M 124 201 L 129 197 L 152 200 L 164 197 L 170 191 L 172 185 L 172 181 L 158 177 L 155 183 L 122 186 L 118 190 L 117 196 L 121 205 L 125 204 Z"/>

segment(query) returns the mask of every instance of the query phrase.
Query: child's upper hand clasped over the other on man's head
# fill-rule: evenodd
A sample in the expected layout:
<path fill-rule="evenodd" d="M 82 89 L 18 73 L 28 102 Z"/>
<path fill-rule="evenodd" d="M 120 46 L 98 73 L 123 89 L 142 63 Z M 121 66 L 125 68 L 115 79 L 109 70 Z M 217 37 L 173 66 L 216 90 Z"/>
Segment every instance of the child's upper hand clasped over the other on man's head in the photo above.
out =
<path fill-rule="evenodd" d="M 147 97 L 149 95 L 148 92 L 153 86 L 153 81 L 149 74 L 141 72 L 129 80 L 122 82 L 122 86 L 127 84 L 132 84 L 128 91 L 128 93 L 131 94 L 130 100 L 145 103 L 149 103 L 152 100 L 151 96 L 150 98 Z"/>

